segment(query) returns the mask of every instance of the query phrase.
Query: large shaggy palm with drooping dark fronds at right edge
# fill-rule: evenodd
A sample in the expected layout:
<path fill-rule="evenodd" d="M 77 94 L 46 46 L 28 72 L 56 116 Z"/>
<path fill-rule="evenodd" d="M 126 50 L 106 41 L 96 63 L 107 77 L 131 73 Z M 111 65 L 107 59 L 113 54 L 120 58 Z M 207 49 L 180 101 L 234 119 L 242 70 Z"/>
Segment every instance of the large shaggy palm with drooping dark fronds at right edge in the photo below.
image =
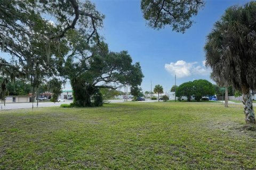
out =
<path fill-rule="evenodd" d="M 214 24 L 205 45 L 214 77 L 243 94 L 246 128 L 255 127 L 250 90 L 256 89 L 256 2 L 231 6 Z"/>

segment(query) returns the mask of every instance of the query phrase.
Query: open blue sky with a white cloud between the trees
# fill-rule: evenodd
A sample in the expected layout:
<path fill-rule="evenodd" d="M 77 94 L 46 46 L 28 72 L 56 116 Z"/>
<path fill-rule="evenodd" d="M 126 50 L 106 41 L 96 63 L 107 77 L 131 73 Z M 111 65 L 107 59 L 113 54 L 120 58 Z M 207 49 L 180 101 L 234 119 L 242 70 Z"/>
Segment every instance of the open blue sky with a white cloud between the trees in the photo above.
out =
<path fill-rule="evenodd" d="M 210 69 L 203 65 L 204 44 L 214 22 L 226 8 L 245 4 L 247 1 L 206 1 L 194 17 L 195 23 L 186 33 L 173 32 L 170 27 L 154 30 L 146 25 L 140 10 L 140 1 L 93 1 L 106 15 L 100 31 L 109 49 L 114 52 L 127 50 L 133 62 L 140 62 L 145 78 L 142 90 L 161 84 L 170 90 L 177 74 L 177 84 L 195 79 L 210 79 Z M 178 62 L 179 61 L 179 62 Z M 214 82 L 213 82 L 214 83 Z"/>

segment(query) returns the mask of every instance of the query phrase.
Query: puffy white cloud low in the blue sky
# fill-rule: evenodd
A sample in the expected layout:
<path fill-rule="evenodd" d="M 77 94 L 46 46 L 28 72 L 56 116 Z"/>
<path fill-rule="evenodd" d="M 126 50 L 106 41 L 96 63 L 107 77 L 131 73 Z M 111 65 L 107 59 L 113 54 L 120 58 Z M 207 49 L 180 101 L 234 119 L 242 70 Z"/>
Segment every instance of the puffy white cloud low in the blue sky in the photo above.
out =
<path fill-rule="evenodd" d="M 165 64 L 165 70 L 167 70 L 172 75 L 177 76 L 177 78 L 185 78 L 190 75 L 209 75 L 211 70 L 206 69 L 205 61 L 202 62 L 203 65 L 198 65 L 197 62 L 187 63 L 183 60 L 179 60 L 176 63 Z"/>

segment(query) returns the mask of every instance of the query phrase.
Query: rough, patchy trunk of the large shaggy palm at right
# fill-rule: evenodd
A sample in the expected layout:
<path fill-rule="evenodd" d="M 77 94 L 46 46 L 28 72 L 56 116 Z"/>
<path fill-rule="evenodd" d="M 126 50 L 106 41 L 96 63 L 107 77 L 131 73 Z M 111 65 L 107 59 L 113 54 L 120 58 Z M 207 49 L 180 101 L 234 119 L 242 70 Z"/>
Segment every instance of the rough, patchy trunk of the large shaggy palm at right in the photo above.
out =
<path fill-rule="evenodd" d="M 252 129 L 255 122 L 255 115 L 252 107 L 252 94 L 250 92 L 250 88 L 246 85 L 242 86 L 242 94 L 243 94 L 243 104 L 244 104 L 244 114 L 245 114 L 245 122 L 248 129 Z"/>

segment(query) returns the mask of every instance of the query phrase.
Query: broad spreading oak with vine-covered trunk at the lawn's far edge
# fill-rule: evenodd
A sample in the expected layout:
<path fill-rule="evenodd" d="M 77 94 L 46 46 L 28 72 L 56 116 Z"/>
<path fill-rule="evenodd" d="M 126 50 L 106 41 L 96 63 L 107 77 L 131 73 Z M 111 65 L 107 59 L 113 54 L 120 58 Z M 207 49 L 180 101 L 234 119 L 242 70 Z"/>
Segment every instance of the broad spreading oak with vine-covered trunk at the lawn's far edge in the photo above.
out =
<path fill-rule="evenodd" d="M 95 91 L 98 88 L 117 89 L 123 84 L 132 87 L 141 84 L 143 74 L 140 64 L 132 64 L 132 58 L 127 52 L 105 52 L 97 46 L 91 50 L 93 55 L 82 57 L 79 62 L 74 61 L 75 57 L 79 58 L 76 55 L 70 56 L 66 62 L 65 70 L 74 91 L 76 105 L 94 106 L 91 97 L 97 94 Z M 87 50 L 84 53 L 88 55 Z"/>

